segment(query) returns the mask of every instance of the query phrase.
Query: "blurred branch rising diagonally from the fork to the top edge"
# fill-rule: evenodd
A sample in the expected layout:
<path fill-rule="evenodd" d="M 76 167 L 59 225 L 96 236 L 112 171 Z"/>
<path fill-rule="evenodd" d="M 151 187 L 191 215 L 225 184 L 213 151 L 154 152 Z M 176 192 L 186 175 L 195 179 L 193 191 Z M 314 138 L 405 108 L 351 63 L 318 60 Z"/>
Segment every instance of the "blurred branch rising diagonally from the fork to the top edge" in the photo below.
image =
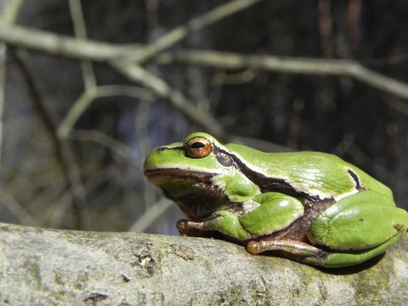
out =
<path fill-rule="evenodd" d="M 190 32 L 199 31 L 208 27 L 208 25 L 245 10 L 260 1 L 262 0 L 233 0 L 222 4 L 205 14 L 191 19 L 187 24 L 171 30 L 156 42 L 136 49 L 129 56 L 125 56 L 121 60 L 128 63 L 133 62 L 134 64 L 145 62 L 147 59 L 183 40 Z"/>

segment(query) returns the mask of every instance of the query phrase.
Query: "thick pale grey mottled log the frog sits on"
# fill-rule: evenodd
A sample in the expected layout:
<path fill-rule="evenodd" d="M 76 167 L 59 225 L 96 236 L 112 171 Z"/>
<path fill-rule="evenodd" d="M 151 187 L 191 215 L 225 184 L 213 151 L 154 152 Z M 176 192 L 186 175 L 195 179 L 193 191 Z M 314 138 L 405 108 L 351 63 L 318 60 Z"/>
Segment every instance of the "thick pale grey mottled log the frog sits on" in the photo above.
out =
<path fill-rule="evenodd" d="M 322 269 L 214 239 L 0 223 L 0 305 L 403 305 L 408 234 Z"/>

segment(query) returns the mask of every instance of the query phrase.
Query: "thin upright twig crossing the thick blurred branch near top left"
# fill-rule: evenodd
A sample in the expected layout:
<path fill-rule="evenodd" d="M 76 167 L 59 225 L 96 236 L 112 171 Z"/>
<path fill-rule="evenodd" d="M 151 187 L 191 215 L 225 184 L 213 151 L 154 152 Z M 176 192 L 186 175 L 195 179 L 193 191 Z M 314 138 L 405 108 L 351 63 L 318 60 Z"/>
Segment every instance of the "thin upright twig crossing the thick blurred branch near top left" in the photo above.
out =
<path fill-rule="evenodd" d="M 75 37 L 79 40 L 86 40 L 86 25 L 82 12 L 81 0 L 69 0 L 69 10 L 73 23 Z M 93 72 L 91 61 L 81 61 L 82 74 L 84 77 L 85 91 L 96 87 L 95 73 Z"/>

